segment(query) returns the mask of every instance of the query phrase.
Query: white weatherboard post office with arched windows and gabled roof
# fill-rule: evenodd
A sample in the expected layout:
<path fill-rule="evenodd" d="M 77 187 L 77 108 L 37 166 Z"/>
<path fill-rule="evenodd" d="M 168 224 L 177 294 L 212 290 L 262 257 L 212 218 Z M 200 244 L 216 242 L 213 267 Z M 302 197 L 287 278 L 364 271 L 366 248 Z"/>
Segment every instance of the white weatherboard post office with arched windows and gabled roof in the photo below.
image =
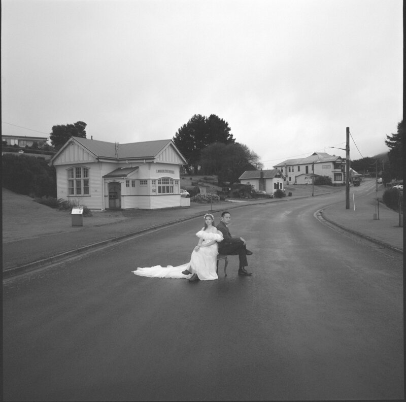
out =
<path fill-rule="evenodd" d="M 57 197 L 91 210 L 181 206 L 186 159 L 172 140 L 115 144 L 71 137 L 52 157 Z"/>

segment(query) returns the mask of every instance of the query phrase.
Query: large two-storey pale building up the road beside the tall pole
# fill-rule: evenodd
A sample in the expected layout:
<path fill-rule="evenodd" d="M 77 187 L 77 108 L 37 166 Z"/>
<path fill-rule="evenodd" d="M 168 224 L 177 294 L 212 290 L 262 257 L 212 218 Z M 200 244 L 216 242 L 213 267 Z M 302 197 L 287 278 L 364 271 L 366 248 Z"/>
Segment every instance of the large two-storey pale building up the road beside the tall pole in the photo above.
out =
<path fill-rule="evenodd" d="M 311 174 L 316 176 L 328 176 L 333 186 L 345 184 L 345 159 L 341 156 L 329 155 L 325 152 L 315 152 L 306 158 L 287 159 L 274 166 L 280 169 L 285 177 L 285 184 L 299 184 L 309 180 Z M 302 174 L 305 176 L 301 176 Z M 306 176 L 308 177 L 306 179 Z"/>

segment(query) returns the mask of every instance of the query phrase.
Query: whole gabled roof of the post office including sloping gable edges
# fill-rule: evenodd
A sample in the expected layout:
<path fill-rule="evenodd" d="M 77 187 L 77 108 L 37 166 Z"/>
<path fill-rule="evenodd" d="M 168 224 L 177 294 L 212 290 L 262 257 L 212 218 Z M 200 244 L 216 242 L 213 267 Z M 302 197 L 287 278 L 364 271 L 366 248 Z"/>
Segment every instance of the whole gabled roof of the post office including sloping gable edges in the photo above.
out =
<path fill-rule="evenodd" d="M 116 144 L 106 141 L 89 140 L 87 138 L 71 137 L 62 148 L 52 157 L 50 164 L 69 146 L 72 142 L 79 144 L 95 158 L 127 160 L 127 159 L 154 159 L 166 147 L 173 147 L 175 152 L 186 163 L 186 159 L 176 148 L 172 140 L 144 141 L 138 143 Z"/>

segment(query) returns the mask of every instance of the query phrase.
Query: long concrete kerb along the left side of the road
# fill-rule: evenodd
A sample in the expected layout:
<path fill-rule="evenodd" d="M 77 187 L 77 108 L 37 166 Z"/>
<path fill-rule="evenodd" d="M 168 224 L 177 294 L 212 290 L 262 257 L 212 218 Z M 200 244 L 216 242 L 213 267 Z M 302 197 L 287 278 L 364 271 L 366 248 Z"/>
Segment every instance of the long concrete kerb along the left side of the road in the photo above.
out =
<path fill-rule="evenodd" d="M 328 194 L 328 193 L 326 193 L 326 194 Z M 323 195 L 323 194 L 317 194 L 317 195 Z M 290 199 L 299 199 L 299 198 L 308 198 L 308 197 L 309 196 L 307 195 L 307 196 L 299 196 L 299 197 L 290 198 Z M 211 211 L 208 211 L 208 212 L 216 213 L 216 212 L 221 212 L 224 209 L 232 210 L 232 209 L 243 208 L 243 207 L 247 207 L 247 206 L 251 206 L 251 205 L 269 204 L 269 203 L 274 203 L 274 202 L 284 201 L 284 200 L 288 200 L 288 199 L 286 199 L 286 198 L 266 199 L 266 200 L 261 200 L 260 202 L 256 202 L 256 203 L 249 203 L 249 204 L 242 204 L 242 205 L 239 204 L 239 205 L 235 205 L 235 206 L 227 206 L 227 208 L 221 208 L 221 209 L 218 209 L 218 210 L 211 210 Z M 127 233 L 126 235 L 114 237 L 114 238 L 111 238 L 111 239 L 103 240 L 103 241 L 92 243 L 92 244 L 88 244 L 86 246 L 79 247 L 79 248 L 76 248 L 74 250 L 70 250 L 70 251 L 66 251 L 66 252 L 61 253 L 61 254 L 54 255 L 52 257 L 47 257 L 47 258 L 44 258 L 44 259 L 41 259 L 41 260 L 38 260 L 38 261 L 29 262 L 28 264 L 19 265 L 19 266 L 13 266 L 13 267 L 3 271 L 3 279 L 8 279 L 8 278 L 11 278 L 13 276 L 24 274 L 24 273 L 27 273 L 27 272 L 30 272 L 30 271 L 33 271 L 33 270 L 48 266 L 48 265 L 56 264 L 56 263 L 62 262 L 64 260 L 67 260 L 69 258 L 79 256 L 79 255 L 84 254 L 84 253 L 87 253 L 89 251 L 96 250 L 98 248 L 103 248 L 103 247 L 106 247 L 106 246 L 111 245 L 113 243 L 118 243 L 118 242 L 123 241 L 123 240 L 128 240 L 131 237 L 139 236 L 142 233 L 146 233 L 146 232 L 149 232 L 149 231 L 152 231 L 152 230 L 156 230 L 156 229 L 160 229 L 160 228 L 163 228 L 163 227 L 166 227 L 166 226 L 170 226 L 170 225 L 173 225 L 175 223 L 185 222 L 187 220 L 198 218 L 199 216 L 201 216 L 201 212 L 202 211 L 200 211 L 199 213 L 196 213 L 194 215 L 190 215 L 188 217 L 185 217 L 185 218 L 181 218 L 181 219 L 177 219 L 177 220 L 174 220 L 174 221 L 154 225 L 154 226 L 151 226 L 151 227 L 146 228 L 146 229 L 141 229 L 141 230 L 137 230 L 137 231 L 134 231 L 134 232 L 130 232 L 130 233 Z M 334 222 L 331 222 L 331 223 L 334 224 Z"/>

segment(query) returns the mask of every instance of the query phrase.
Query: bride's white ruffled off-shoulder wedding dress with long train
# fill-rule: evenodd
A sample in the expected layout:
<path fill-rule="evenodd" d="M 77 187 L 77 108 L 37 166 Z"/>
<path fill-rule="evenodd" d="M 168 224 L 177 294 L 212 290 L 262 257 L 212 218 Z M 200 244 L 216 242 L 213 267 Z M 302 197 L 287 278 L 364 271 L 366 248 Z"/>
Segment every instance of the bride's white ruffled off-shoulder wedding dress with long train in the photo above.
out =
<path fill-rule="evenodd" d="M 221 242 L 223 240 L 223 235 L 219 233 L 209 233 L 205 230 L 199 230 L 196 233 L 198 238 L 203 240 L 203 244 L 209 243 L 213 240 L 216 242 Z M 212 244 L 207 247 L 200 247 L 198 251 L 192 252 L 190 256 L 190 261 L 177 266 L 161 266 L 154 265 L 150 267 L 140 268 L 138 267 L 136 271 L 131 271 L 135 275 L 145 276 L 149 278 L 174 278 L 174 279 L 188 279 L 192 274 L 197 274 L 198 278 L 202 281 L 208 281 L 213 279 L 218 279 L 216 269 L 217 262 L 216 257 L 218 254 L 217 243 Z M 184 275 L 182 271 L 188 270 L 192 274 Z"/>

